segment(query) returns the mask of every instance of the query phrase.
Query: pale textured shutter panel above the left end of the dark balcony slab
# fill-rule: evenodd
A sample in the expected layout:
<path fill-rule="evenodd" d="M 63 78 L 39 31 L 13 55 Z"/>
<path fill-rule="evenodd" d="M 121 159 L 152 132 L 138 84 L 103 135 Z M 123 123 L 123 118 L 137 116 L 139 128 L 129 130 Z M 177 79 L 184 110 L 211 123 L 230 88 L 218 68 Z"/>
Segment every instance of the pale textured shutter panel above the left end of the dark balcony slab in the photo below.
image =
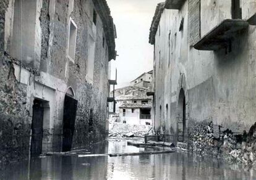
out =
<path fill-rule="evenodd" d="M 189 45 L 200 40 L 200 0 L 189 0 Z"/>

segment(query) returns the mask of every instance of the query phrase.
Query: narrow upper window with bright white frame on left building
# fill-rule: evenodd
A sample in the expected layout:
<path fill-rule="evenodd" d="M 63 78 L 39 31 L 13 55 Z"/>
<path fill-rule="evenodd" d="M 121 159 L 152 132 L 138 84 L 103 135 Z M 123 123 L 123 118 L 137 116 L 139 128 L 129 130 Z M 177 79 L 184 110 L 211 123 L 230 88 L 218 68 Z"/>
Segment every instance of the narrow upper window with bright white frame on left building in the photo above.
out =
<path fill-rule="evenodd" d="M 68 46 L 68 56 L 72 61 L 75 60 L 75 43 L 77 41 L 77 25 L 75 22 L 70 18 L 69 21 L 69 46 Z"/>

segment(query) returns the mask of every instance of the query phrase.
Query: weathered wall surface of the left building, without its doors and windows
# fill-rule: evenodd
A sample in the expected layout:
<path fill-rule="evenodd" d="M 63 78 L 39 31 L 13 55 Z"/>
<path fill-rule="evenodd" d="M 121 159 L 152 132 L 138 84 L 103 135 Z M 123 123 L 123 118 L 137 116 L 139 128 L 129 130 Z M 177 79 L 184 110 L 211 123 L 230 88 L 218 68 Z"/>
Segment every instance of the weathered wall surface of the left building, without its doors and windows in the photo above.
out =
<path fill-rule="evenodd" d="M 0 2 L 0 165 L 29 157 L 34 99 L 44 104 L 42 153 L 62 150 L 67 91 L 78 100 L 72 149 L 101 141 L 106 130 L 109 62 L 102 12 L 101 16 L 96 12 L 95 26 L 93 1 L 37 0 L 34 48 L 39 61 L 30 59 L 32 65 L 11 55 L 14 2 Z M 73 60 L 67 57 L 70 17 L 77 25 Z M 88 63 L 89 36 L 95 39 L 93 68 Z M 87 78 L 90 68 L 93 81 Z"/>

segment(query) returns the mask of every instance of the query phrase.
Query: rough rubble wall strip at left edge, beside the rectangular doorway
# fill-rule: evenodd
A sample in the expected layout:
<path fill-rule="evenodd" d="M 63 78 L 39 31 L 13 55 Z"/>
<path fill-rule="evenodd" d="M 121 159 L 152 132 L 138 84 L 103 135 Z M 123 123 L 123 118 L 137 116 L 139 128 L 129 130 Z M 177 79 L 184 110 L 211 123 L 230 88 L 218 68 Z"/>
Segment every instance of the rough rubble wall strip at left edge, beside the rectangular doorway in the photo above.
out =
<path fill-rule="evenodd" d="M 26 86 L 14 76 L 11 59 L 4 54 L 4 20 L 9 1 L 0 2 L 0 167 L 28 157 L 30 121 Z"/>

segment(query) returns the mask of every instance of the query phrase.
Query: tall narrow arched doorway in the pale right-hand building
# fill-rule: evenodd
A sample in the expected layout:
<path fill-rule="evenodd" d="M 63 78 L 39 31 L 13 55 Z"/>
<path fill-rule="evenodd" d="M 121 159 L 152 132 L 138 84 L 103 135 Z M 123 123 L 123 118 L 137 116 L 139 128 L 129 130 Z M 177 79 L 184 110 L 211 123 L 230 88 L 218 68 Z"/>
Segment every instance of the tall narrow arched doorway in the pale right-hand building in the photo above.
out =
<path fill-rule="evenodd" d="M 183 88 L 179 92 L 177 115 L 177 141 L 184 142 L 186 129 L 186 98 Z"/>

